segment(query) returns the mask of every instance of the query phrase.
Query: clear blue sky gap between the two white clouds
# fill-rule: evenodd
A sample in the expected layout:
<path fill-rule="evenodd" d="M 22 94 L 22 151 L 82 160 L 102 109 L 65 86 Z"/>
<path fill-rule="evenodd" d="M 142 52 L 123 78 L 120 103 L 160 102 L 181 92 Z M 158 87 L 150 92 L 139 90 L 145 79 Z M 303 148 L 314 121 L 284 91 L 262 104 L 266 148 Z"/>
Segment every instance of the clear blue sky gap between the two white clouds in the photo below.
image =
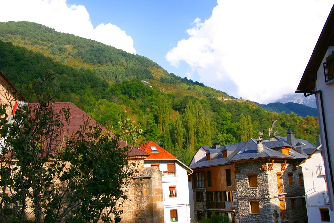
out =
<path fill-rule="evenodd" d="M 188 37 L 195 18 L 211 16 L 216 0 L 185 1 L 89 1 L 69 0 L 68 4 L 84 5 L 94 27 L 112 23 L 125 30 L 134 41 L 137 54 L 148 57 L 170 73 L 185 76 L 188 66 L 174 67 L 166 61 L 167 52 Z"/>

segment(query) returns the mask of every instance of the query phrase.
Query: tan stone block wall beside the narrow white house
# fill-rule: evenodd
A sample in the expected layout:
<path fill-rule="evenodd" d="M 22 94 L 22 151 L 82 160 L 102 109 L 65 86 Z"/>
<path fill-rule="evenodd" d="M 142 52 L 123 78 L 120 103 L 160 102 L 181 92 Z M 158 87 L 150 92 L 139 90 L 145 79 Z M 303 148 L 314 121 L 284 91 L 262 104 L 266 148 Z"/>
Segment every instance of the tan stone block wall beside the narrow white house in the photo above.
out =
<path fill-rule="evenodd" d="M 164 222 L 161 173 L 156 167 L 144 168 L 136 177 L 122 210 L 124 223 Z"/>

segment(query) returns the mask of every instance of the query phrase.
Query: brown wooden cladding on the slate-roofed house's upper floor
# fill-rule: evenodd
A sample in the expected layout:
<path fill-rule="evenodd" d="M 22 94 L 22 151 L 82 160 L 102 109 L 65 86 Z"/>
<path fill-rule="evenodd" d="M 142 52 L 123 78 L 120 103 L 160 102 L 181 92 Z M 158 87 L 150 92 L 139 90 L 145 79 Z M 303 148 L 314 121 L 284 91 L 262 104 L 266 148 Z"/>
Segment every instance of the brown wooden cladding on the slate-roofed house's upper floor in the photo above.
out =
<path fill-rule="evenodd" d="M 227 170 L 229 169 L 229 170 Z M 208 174 L 207 172 L 211 172 L 211 187 L 208 185 Z M 199 187 L 199 179 L 197 177 L 197 173 L 204 173 L 204 183 L 206 191 L 236 191 L 236 181 L 235 181 L 235 173 L 234 173 L 234 165 L 222 165 L 222 166 L 211 166 L 198 170 L 194 170 L 192 175 L 192 187 Z M 210 177 L 210 176 L 209 176 Z"/>

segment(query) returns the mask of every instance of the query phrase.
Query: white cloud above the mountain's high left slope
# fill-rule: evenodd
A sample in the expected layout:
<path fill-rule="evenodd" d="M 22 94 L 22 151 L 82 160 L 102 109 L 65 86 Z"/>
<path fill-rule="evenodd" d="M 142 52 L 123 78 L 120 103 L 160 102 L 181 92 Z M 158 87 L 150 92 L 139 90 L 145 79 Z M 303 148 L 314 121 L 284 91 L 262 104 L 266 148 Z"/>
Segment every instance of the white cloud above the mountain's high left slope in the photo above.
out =
<path fill-rule="evenodd" d="M 83 5 L 68 5 L 66 0 L 3 0 L 0 1 L 0 8 L 2 22 L 36 22 L 136 54 L 131 36 L 110 23 L 94 28 Z"/>

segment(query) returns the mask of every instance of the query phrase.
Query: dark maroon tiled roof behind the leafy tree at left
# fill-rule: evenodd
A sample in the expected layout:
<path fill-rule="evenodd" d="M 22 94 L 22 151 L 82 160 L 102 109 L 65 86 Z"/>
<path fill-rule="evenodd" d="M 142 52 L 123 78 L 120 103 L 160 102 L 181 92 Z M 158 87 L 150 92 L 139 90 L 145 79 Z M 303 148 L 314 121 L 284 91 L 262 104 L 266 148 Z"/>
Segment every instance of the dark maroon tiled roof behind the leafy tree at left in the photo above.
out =
<path fill-rule="evenodd" d="M 37 107 L 38 103 L 30 103 L 30 107 Z M 68 128 L 68 133 L 69 136 L 73 135 L 76 131 L 80 129 L 80 125 L 82 125 L 86 120 L 89 120 L 89 125 L 98 125 L 102 128 L 102 130 L 107 130 L 105 127 L 103 127 L 101 124 L 97 123 L 96 120 L 94 120 L 92 117 L 90 117 L 85 111 L 81 110 L 79 107 L 77 107 L 75 104 L 71 102 L 55 102 L 52 103 L 54 111 L 60 111 L 62 108 L 70 108 L 70 118 L 68 122 L 65 121 L 65 117 L 61 116 L 60 119 L 63 123 L 63 128 L 62 130 L 67 130 Z M 66 132 L 66 131 L 64 131 Z M 65 136 L 63 136 L 65 137 Z M 61 140 L 61 139 L 60 139 Z M 121 147 L 124 146 L 131 146 L 130 144 L 127 144 L 125 141 L 120 141 L 119 142 Z M 129 154 L 128 156 L 148 156 L 147 153 L 140 151 L 136 147 L 129 147 Z"/>

